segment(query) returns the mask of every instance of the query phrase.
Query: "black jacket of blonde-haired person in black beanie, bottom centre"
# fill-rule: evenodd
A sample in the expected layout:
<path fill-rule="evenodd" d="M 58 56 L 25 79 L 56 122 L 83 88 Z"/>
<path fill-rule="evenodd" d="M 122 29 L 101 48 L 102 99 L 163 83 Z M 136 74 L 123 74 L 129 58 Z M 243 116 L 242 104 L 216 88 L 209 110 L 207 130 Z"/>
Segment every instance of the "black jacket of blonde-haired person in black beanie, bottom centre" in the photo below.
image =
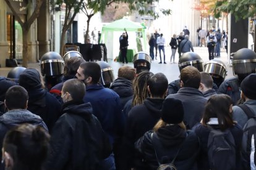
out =
<path fill-rule="evenodd" d="M 197 169 L 197 155 L 200 145 L 199 139 L 195 132 L 185 131 L 179 125 L 161 127 L 156 131 L 154 137 L 158 141 L 158 145 L 152 143 L 152 132 L 148 131 L 135 143 L 135 148 L 142 154 L 143 167 L 137 169 L 152 169 L 158 168 L 156 153 L 158 160 L 161 161 L 163 156 L 168 156 L 160 163 L 171 163 L 176 156 L 179 148 L 179 154 L 174 161 L 177 169 Z M 160 157 L 160 158 L 159 158 Z"/>

